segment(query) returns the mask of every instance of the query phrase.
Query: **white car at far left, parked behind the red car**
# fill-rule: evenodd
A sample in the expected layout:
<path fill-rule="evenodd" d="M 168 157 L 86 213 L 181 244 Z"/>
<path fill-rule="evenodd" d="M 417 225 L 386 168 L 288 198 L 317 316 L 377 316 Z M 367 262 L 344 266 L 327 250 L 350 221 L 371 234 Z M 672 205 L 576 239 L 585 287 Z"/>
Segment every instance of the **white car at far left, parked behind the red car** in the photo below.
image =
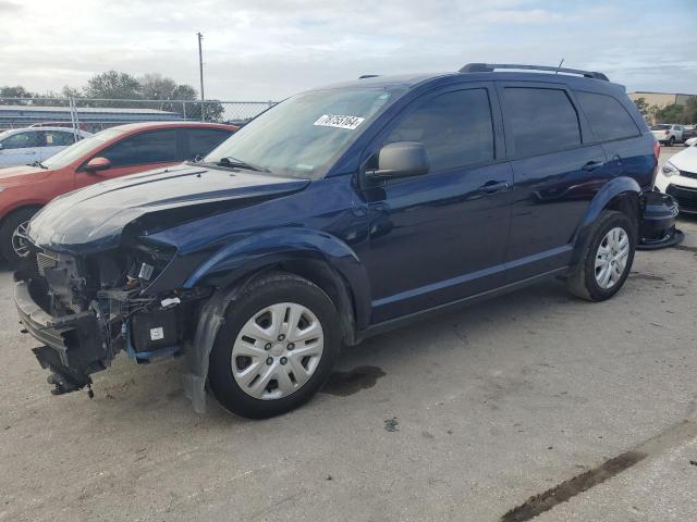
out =
<path fill-rule="evenodd" d="M 80 137 L 91 134 L 80 130 Z M 68 127 L 12 128 L 0 133 L 0 167 L 28 165 L 44 161 L 73 145 L 75 135 Z"/>

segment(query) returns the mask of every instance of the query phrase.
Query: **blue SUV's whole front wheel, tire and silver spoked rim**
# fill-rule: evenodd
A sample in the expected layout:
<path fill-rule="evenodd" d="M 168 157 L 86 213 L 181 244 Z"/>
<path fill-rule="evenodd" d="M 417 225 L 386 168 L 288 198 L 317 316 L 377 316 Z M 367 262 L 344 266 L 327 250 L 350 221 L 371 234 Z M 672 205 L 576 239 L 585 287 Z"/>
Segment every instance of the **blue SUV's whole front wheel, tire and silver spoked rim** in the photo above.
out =
<path fill-rule="evenodd" d="M 210 353 L 208 382 L 232 413 L 279 415 L 325 384 L 339 348 L 339 315 L 327 294 L 294 274 L 262 276 L 229 307 Z"/>

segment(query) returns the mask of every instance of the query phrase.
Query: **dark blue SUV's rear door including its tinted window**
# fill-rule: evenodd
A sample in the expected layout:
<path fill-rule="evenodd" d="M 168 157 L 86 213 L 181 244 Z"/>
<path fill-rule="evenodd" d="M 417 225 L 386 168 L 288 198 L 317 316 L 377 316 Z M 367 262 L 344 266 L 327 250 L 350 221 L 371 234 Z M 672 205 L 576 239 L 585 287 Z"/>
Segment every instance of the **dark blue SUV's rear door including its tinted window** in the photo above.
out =
<path fill-rule="evenodd" d="M 498 90 L 513 166 L 513 282 L 570 262 L 574 234 L 610 170 L 563 84 L 501 82 Z"/>

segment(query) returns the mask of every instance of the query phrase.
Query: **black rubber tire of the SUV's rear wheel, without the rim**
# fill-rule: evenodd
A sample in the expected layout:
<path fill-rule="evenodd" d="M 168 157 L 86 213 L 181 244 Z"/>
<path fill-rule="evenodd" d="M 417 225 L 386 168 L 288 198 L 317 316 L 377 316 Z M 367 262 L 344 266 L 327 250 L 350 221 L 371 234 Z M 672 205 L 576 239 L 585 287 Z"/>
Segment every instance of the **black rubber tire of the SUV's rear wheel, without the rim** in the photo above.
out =
<path fill-rule="evenodd" d="M 627 254 L 624 272 L 621 277 L 610 288 L 602 288 L 596 279 L 596 256 L 600 243 L 606 235 L 615 227 L 623 228 L 629 240 L 629 251 Z M 614 296 L 632 271 L 634 262 L 634 252 L 636 250 L 637 226 L 635 220 L 632 220 L 623 212 L 606 210 L 600 214 L 594 229 L 588 235 L 585 245 L 582 247 L 580 261 L 575 266 L 574 272 L 567 278 L 566 284 L 568 290 L 582 299 L 588 301 L 603 301 Z"/>

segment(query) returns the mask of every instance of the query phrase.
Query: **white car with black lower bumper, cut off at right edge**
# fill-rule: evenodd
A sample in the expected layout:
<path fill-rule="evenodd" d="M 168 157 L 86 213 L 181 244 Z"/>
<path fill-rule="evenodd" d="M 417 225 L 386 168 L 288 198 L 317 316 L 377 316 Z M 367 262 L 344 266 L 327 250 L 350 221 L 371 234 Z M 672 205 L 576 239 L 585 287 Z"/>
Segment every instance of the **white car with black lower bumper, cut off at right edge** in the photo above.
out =
<path fill-rule="evenodd" d="M 697 138 L 693 138 L 697 141 Z M 656 188 L 670 194 L 680 204 L 680 211 L 697 214 L 697 146 L 676 153 L 661 166 L 656 176 Z"/>

